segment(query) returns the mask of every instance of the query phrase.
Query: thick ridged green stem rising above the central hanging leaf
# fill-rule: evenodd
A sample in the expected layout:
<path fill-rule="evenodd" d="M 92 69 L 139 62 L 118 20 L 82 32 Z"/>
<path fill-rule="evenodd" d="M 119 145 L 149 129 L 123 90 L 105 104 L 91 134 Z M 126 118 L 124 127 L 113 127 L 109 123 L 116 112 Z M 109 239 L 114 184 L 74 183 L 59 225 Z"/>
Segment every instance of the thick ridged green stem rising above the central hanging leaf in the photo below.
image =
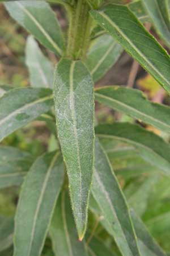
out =
<path fill-rule="evenodd" d="M 92 22 L 89 11 L 90 6 L 86 0 L 77 0 L 73 6 L 66 53 L 71 59 L 78 60 L 86 57 Z"/>

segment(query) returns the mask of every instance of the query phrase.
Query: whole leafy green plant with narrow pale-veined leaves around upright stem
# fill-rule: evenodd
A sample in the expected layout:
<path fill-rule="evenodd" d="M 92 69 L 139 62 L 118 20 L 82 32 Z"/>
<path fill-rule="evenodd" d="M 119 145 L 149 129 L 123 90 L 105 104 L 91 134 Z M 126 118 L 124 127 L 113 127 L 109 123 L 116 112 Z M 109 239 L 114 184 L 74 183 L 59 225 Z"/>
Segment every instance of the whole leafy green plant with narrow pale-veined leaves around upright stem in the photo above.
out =
<path fill-rule="evenodd" d="M 62 31 L 52 3 L 65 8 L 67 30 Z M 30 86 L 1 86 L 0 139 L 39 119 L 56 147 L 37 159 L 15 147 L 0 147 L 0 188 L 21 185 L 15 217 L 2 217 L 0 255 L 165 256 L 140 217 L 158 175 L 169 180 L 170 145 L 135 121 L 169 134 L 170 108 L 137 89 L 94 85 L 125 50 L 170 93 L 170 57 L 144 24 L 150 22 L 170 48 L 170 1 L 4 5 L 31 34 L 25 51 Z M 56 68 L 37 42 L 55 53 Z M 133 122 L 96 125 L 95 101 Z M 116 172 L 130 183 L 125 192 L 114 173 L 117 161 L 119 167 L 126 163 Z M 147 177 L 138 192 L 137 176 Z"/>

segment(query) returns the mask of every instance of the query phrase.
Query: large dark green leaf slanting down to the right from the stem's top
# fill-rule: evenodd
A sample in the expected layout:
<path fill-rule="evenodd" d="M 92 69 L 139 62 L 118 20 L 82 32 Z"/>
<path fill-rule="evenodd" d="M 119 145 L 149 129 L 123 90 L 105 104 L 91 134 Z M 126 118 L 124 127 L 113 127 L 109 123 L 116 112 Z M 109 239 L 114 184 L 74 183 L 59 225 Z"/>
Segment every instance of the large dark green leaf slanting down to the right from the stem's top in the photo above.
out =
<path fill-rule="evenodd" d="M 110 4 L 91 15 L 170 93 L 170 57 L 127 6 Z"/>

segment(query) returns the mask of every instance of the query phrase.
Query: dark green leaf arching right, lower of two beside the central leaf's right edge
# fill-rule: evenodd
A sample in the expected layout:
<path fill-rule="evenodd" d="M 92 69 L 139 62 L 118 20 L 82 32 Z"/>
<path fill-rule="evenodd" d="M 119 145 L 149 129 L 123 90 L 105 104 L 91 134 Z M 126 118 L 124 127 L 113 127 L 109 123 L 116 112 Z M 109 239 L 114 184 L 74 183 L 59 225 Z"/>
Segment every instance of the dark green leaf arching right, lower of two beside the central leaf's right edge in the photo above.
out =
<path fill-rule="evenodd" d="M 116 139 L 135 146 L 145 160 L 169 175 L 170 145 L 158 135 L 131 123 L 99 125 L 96 134 L 100 138 Z"/>

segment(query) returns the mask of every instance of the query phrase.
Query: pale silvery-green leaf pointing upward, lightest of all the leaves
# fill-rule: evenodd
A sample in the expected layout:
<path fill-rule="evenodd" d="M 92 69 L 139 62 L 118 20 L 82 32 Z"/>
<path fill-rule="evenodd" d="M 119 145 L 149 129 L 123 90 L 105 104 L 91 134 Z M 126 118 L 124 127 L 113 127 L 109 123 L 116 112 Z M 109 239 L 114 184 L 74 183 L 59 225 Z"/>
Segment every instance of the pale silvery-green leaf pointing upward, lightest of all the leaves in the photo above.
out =
<path fill-rule="evenodd" d="M 33 87 L 52 88 L 54 68 L 43 55 L 33 36 L 28 36 L 26 45 L 26 64 Z"/>

